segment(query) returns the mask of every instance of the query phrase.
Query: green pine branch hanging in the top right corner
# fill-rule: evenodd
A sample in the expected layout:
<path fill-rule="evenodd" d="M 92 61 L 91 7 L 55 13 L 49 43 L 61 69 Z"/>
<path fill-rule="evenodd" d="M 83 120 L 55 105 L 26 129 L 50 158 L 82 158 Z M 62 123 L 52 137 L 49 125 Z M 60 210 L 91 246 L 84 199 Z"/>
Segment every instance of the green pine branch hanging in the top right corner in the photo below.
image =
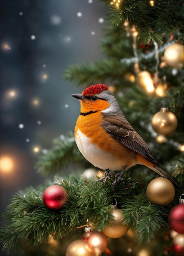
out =
<path fill-rule="evenodd" d="M 112 24 L 120 25 L 129 21 L 131 26 L 136 26 L 138 39 L 143 44 L 151 40 L 163 43 L 163 35 L 183 31 L 184 28 L 182 0 L 160 0 L 154 6 L 145 0 L 125 0 L 111 9 Z"/>

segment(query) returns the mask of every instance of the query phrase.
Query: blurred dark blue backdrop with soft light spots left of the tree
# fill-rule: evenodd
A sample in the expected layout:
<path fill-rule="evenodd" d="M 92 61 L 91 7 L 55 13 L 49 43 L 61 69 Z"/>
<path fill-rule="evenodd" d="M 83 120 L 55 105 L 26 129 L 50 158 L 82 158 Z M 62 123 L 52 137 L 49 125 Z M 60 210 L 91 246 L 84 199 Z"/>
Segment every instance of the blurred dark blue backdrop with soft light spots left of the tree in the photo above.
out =
<path fill-rule="evenodd" d="M 44 183 L 38 156 L 74 130 L 80 106 L 71 94 L 83 88 L 63 71 L 101 58 L 106 11 L 96 0 L 0 1 L 1 213 L 13 194 Z"/>

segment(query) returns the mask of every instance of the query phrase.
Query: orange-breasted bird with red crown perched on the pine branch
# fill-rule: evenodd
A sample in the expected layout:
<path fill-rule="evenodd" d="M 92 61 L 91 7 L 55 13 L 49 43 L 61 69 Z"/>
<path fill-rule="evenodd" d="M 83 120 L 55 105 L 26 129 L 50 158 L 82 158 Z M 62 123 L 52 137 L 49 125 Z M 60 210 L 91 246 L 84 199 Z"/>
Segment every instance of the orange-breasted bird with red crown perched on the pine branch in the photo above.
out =
<path fill-rule="evenodd" d="M 142 164 L 182 189 L 159 167 L 148 145 L 129 124 L 107 85 L 90 85 L 81 94 L 72 94 L 72 97 L 81 103 L 74 128 L 77 147 L 88 162 L 105 171 L 104 177 L 96 181 L 106 182 L 111 177 L 110 171 L 118 171 L 112 183 L 116 184 L 123 180 L 125 171 Z"/>

